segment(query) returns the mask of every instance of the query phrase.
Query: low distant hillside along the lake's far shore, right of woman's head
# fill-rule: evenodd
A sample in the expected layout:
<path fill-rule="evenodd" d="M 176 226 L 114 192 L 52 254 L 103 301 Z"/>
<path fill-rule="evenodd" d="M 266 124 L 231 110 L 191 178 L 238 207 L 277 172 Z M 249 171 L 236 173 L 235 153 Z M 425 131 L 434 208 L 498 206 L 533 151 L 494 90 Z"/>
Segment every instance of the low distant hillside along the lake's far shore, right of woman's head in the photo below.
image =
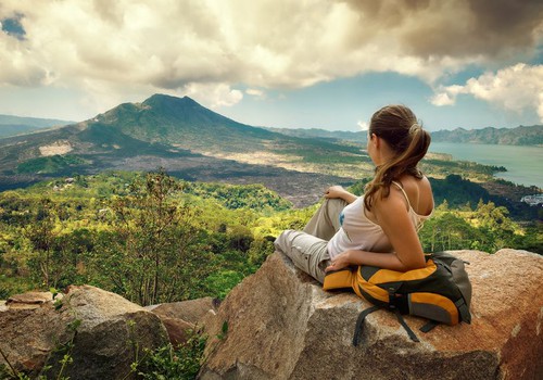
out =
<path fill-rule="evenodd" d="M 432 132 L 434 142 L 490 143 L 506 145 L 543 145 L 543 125 L 517 128 L 440 130 Z"/>

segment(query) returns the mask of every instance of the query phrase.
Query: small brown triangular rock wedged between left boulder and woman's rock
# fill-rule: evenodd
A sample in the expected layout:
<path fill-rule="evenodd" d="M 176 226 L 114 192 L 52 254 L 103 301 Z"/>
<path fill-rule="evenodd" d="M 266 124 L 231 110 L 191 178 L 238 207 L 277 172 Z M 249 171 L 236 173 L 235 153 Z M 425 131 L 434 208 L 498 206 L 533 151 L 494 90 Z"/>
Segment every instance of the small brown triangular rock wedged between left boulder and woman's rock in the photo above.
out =
<path fill-rule="evenodd" d="M 185 343 L 190 338 L 190 331 L 197 331 L 201 320 L 207 314 L 214 315 L 218 307 L 218 301 L 211 296 L 172 302 L 160 305 L 147 306 L 146 308 L 156 314 L 166 327 L 169 342 L 174 345 Z"/>

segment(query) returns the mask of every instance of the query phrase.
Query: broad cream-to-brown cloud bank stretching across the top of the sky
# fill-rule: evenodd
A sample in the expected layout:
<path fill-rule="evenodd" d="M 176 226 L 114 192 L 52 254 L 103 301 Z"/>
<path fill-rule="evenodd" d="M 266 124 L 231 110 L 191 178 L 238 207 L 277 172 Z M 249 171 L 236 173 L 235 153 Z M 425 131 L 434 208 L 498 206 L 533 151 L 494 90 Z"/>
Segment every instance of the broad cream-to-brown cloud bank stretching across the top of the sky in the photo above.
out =
<path fill-rule="evenodd" d="M 507 11 L 514 1 L 2 0 L 0 21 L 21 15 L 25 39 L 0 31 L 0 86 L 201 91 L 226 105 L 242 98 L 236 84 L 300 88 L 388 71 L 435 83 L 541 42 L 542 7 Z M 444 92 L 434 102 L 454 101 Z"/>

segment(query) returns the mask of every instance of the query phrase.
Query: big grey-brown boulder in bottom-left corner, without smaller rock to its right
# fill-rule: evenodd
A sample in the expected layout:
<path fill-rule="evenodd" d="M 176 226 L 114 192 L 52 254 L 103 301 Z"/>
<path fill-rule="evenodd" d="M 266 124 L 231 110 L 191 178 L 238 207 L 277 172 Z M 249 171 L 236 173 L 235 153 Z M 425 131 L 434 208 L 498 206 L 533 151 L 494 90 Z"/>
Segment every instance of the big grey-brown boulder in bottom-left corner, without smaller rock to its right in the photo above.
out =
<path fill-rule="evenodd" d="M 47 375 L 58 373 L 64 352 L 55 349 L 72 342 L 73 363 L 62 373 L 71 379 L 131 378 L 135 351 L 141 356 L 144 347 L 167 343 L 154 314 L 90 286 L 70 287 L 59 311 L 51 301 L 34 309 L 9 306 L 0 313 L 0 335 L 11 365 L 30 376 L 38 375 L 46 360 L 52 366 Z"/>

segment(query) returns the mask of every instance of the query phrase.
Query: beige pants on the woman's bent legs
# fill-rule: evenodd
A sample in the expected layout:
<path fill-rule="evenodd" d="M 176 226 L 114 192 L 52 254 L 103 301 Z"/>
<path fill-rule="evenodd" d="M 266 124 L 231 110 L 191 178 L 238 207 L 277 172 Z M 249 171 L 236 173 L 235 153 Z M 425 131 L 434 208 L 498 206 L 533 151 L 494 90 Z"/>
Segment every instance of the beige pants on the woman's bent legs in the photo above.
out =
<path fill-rule="evenodd" d="M 346 206 L 341 199 L 327 199 L 313 215 L 303 231 L 285 230 L 275 241 L 277 250 L 289 256 L 294 265 L 320 283 L 330 255 L 327 244 L 339 230 L 339 215 Z"/>

